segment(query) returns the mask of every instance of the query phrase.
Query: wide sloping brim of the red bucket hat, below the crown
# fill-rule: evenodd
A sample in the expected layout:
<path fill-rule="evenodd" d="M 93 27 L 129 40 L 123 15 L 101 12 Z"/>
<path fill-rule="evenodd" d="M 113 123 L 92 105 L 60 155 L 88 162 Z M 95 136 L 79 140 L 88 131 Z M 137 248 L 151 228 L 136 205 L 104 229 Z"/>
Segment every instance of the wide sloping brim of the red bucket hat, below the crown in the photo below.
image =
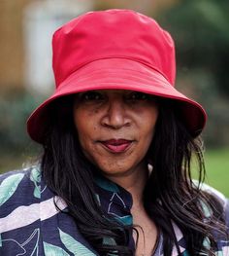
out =
<path fill-rule="evenodd" d="M 66 78 L 28 118 L 27 131 L 30 137 L 43 143 L 51 102 L 81 91 L 112 89 L 142 91 L 176 100 L 182 120 L 193 137 L 205 127 L 207 115 L 203 107 L 177 91 L 157 70 L 140 61 L 111 57 L 89 62 Z"/>

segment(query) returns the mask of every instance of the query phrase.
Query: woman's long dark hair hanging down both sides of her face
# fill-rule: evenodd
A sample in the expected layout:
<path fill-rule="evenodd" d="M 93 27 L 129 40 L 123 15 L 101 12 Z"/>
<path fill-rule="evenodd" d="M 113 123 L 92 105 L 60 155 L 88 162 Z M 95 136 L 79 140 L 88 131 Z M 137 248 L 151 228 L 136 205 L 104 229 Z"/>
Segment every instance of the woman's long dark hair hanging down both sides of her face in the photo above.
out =
<path fill-rule="evenodd" d="M 222 205 L 200 188 L 205 177 L 202 141 L 194 139 L 180 122 L 172 100 L 158 101 L 159 116 L 147 152 L 153 169 L 144 192 L 145 208 L 163 235 L 165 256 L 171 256 L 174 244 L 181 255 L 174 224 L 180 228 L 190 255 L 215 255 L 213 234 L 226 236 L 226 228 Z M 99 255 L 134 255 L 127 246 L 134 228 L 109 217 L 95 198 L 93 172 L 98 170 L 82 154 L 72 109 L 73 96 L 59 99 L 49 109 L 43 176 L 49 189 L 66 201 L 66 214 L 74 218 L 82 236 Z M 197 184 L 191 179 L 194 157 L 199 171 Z M 210 216 L 206 216 L 204 208 L 210 210 Z M 115 243 L 104 243 L 104 238 L 112 238 Z M 209 248 L 203 245 L 204 240 L 209 242 Z"/>

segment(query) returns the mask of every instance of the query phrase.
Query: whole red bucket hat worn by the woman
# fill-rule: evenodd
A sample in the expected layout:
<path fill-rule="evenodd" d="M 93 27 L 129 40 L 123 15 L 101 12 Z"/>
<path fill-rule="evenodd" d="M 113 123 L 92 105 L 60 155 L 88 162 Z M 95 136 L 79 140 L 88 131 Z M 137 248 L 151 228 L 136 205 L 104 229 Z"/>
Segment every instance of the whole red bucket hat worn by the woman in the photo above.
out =
<path fill-rule="evenodd" d="M 192 136 L 204 128 L 202 106 L 174 88 L 174 42 L 154 19 L 130 10 L 89 12 L 55 31 L 52 50 L 56 89 L 27 121 L 33 140 L 43 143 L 51 102 L 103 89 L 142 91 L 176 100 Z"/>

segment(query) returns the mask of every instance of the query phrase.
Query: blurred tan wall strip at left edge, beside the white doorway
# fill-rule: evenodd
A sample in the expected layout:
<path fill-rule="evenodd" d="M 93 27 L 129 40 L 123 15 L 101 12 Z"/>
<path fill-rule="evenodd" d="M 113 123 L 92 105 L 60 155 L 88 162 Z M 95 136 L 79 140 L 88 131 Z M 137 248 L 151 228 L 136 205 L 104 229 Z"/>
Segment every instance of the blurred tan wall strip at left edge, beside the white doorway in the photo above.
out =
<path fill-rule="evenodd" d="M 29 0 L 0 1 L 0 92 L 23 83 L 23 8 Z"/>

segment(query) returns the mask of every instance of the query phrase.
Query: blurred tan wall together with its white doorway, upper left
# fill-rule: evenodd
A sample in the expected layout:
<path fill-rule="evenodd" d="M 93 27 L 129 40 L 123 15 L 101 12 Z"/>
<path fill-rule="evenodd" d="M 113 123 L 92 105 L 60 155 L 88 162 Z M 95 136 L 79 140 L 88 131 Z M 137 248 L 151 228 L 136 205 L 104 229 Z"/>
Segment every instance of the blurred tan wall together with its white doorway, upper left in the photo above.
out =
<path fill-rule="evenodd" d="M 0 92 L 51 87 L 52 32 L 92 6 L 90 0 L 1 0 Z"/>

